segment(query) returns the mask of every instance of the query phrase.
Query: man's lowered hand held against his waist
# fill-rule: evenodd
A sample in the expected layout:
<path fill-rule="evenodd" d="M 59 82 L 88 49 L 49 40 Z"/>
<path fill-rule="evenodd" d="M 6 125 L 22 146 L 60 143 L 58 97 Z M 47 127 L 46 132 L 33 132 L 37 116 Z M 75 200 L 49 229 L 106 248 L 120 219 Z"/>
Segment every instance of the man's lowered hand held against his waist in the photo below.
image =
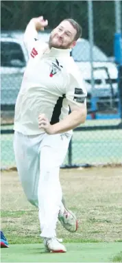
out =
<path fill-rule="evenodd" d="M 38 128 L 43 128 L 49 135 L 53 134 L 53 126 L 49 123 L 49 119 L 47 119 L 45 114 L 38 116 Z"/>

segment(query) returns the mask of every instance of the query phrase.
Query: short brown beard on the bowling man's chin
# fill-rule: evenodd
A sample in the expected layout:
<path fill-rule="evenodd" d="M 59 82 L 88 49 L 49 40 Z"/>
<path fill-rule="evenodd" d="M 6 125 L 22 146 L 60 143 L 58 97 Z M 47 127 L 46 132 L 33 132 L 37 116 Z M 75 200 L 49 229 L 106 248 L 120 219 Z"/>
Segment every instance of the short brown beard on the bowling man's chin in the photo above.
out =
<path fill-rule="evenodd" d="M 51 36 L 49 37 L 49 48 L 51 49 L 51 47 L 55 47 L 57 49 L 69 49 L 71 47 L 71 43 L 63 45 L 62 41 L 59 41 L 58 43 L 58 38 L 57 41 L 55 41 L 55 36 Z"/>

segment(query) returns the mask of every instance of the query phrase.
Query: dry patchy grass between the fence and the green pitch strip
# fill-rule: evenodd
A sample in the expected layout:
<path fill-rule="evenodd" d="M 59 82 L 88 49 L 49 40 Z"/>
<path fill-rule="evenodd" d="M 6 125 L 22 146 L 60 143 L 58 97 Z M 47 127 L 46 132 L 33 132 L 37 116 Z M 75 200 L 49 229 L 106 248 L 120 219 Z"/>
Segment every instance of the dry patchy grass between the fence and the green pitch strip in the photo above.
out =
<path fill-rule="evenodd" d="M 60 181 L 79 229 L 69 233 L 58 222 L 58 238 L 65 242 L 121 242 L 121 168 L 61 170 Z M 1 173 L 1 229 L 10 244 L 41 242 L 38 209 L 23 194 L 17 172 Z"/>

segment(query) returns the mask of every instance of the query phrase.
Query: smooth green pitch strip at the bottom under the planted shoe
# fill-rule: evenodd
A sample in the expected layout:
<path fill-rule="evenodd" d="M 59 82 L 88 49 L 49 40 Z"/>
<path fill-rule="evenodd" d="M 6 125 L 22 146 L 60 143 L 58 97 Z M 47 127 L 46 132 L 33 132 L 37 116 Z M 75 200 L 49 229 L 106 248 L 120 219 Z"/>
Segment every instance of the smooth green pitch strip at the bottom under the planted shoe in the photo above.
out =
<path fill-rule="evenodd" d="M 21 262 L 111 262 L 120 253 L 121 245 L 70 243 L 66 244 L 67 253 L 45 253 L 42 244 L 13 244 L 9 249 L 2 249 L 1 262 L 20 262 L 20 259 Z"/>

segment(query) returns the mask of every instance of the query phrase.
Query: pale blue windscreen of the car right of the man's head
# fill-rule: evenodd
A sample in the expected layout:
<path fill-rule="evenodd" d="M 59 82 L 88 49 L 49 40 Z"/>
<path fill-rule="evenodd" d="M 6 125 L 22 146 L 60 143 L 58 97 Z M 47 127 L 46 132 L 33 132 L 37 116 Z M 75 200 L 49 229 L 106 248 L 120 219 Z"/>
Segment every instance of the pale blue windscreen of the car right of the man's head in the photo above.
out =
<path fill-rule="evenodd" d="M 75 47 L 72 49 L 73 59 L 75 61 L 90 61 L 90 43 L 86 40 L 77 42 Z M 104 54 L 101 49 L 97 46 L 93 46 L 93 61 L 95 62 L 105 62 L 108 61 L 108 57 Z"/>

